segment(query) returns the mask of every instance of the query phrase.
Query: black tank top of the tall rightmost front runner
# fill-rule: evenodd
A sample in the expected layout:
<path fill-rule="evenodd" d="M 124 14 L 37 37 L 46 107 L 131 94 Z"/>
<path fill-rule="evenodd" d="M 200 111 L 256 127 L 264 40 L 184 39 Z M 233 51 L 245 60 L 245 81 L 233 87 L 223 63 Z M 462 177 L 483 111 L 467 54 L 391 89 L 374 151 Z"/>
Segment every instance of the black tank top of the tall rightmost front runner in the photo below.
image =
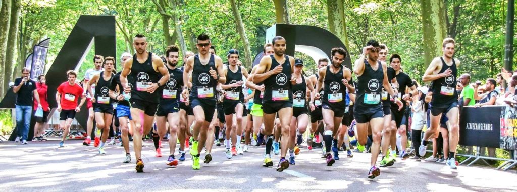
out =
<path fill-rule="evenodd" d="M 456 67 L 456 62 L 452 59 L 452 66 L 448 66 L 442 57 L 440 57 L 440 60 L 442 60 L 442 70 L 440 70 L 438 74 L 444 73 L 449 68 L 452 73 L 448 77 L 433 81 L 433 98 L 431 102 L 433 103 L 433 107 L 438 108 L 447 107 L 450 103 L 458 101 L 458 93 L 456 92 L 458 68 Z"/>

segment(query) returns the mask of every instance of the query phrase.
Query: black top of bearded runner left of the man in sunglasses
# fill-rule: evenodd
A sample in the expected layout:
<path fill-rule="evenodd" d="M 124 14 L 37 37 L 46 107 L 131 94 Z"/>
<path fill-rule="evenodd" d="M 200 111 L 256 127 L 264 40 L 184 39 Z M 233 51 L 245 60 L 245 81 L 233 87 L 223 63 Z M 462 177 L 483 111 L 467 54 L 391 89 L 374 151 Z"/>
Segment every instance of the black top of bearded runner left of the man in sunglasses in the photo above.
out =
<path fill-rule="evenodd" d="M 181 86 L 183 86 L 183 71 L 179 68 L 170 69 L 169 70 L 169 80 L 163 86 L 163 91 L 160 97 L 160 103 L 166 102 L 176 102 L 179 100 L 179 95 L 181 94 Z"/>

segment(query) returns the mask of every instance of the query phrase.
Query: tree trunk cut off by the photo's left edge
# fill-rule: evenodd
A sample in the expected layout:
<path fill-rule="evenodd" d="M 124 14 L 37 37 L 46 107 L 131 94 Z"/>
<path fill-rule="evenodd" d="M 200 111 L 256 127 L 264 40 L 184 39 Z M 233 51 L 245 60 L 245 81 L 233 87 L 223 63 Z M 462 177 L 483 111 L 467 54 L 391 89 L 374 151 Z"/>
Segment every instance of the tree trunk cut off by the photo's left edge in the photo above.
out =
<path fill-rule="evenodd" d="M 2 1 L 0 9 L 0 99 L 4 98 L 4 68 L 6 63 L 7 39 L 9 34 L 9 24 L 11 18 L 11 1 Z"/>

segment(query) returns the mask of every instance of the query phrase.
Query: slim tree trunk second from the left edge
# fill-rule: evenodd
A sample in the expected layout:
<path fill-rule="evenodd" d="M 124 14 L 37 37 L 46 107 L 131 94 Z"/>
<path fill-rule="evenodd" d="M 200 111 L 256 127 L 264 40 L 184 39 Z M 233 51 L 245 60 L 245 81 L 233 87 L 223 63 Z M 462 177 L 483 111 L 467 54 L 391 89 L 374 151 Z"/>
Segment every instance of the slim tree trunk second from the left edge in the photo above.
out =
<path fill-rule="evenodd" d="M 18 23 L 20 21 L 20 0 L 12 0 L 11 2 L 11 21 L 9 25 L 9 35 L 7 38 L 7 49 L 6 49 L 6 59 L 5 59 L 5 68 L 4 68 L 4 77 L 6 82 L 9 81 L 12 76 L 12 69 L 14 68 L 14 64 L 16 64 L 16 44 L 18 38 Z M 4 83 L 5 84 L 5 83 Z M 7 91 L 8 86 L 5 86 L 4 93 Z"/>

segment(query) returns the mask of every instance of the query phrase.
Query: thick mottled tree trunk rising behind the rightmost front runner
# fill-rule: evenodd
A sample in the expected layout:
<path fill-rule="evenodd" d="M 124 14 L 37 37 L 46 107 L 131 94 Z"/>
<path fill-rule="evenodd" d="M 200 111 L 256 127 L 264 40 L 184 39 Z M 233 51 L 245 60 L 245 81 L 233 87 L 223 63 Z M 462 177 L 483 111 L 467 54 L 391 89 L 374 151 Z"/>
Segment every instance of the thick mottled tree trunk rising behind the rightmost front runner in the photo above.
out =
<path fill-rule="evenodd" d="M 445 6 L 443 0 L 420 0 L 424 66 L 442 55 L 442 41 L 446 34 Z"/>

